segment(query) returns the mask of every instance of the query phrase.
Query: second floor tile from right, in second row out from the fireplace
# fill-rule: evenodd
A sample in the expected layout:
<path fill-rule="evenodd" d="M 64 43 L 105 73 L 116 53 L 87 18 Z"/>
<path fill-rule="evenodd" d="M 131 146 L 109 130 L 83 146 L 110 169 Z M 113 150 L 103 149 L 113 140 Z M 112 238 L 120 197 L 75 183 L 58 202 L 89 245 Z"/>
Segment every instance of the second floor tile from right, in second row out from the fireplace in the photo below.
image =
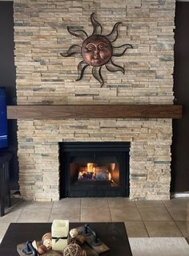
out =
<path fill-rule="evenodd" d="M 139 213 L 143 221 L 172 221 L 171 215 L 164 207 L 158 208 L 139 208 Z"/>

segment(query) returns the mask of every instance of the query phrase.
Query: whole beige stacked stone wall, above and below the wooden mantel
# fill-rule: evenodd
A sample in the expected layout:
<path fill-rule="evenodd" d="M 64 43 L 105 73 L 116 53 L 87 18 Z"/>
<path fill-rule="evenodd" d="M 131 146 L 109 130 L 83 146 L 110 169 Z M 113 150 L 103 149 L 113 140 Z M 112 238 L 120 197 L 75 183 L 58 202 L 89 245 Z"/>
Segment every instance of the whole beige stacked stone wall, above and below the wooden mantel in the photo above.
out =
<path fill-rule="evenodd" d="M 60 52 L 81 40 L 67 26 L 91 34 L 90 14 L 110 33 L 117 22 L 114 57 L 125 74 L 103 68 L 103 88 L 86 68 L 76 82 L 81 56 Z M 172 104 L 175 1 L 173 0 L 15 0 L 14 42 L 18 105 Z M 22 196 L 58 200 L 58 142 L 130 141 L 130 197 L 167 199 L 170 188 L 170 119 L 90 119 L 18 121 L 18 159 Z"/>

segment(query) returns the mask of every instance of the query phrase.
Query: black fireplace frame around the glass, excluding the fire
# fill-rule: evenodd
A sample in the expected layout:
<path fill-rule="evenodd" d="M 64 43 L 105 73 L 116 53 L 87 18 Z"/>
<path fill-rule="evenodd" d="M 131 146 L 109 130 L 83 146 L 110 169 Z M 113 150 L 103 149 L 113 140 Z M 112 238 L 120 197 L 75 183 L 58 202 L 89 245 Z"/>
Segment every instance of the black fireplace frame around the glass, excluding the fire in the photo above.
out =
<path fill-rule="evenodd" d="M 60 198 L 65 197 L 116 197 L 129 196 L 129 151 L 130 142 L 59 142 Z M 81 186 L 76 188 L 70 185 L 70 155 L 74 152 L 110 152 L 119 158 L 119 187 Z M 78 153 L 79 154 L 79 153 Z"/>

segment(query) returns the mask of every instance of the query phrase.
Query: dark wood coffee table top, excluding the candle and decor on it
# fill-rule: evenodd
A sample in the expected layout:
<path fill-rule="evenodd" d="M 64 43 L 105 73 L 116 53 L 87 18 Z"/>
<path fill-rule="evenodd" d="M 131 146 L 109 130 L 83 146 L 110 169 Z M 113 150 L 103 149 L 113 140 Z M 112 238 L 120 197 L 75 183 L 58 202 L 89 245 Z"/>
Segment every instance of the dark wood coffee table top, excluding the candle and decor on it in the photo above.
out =
<path fill-rule="evenodd" d="M 70 229 L 86 223 L 70 223 Z M 111 256 L 131 256 L 131 247 L 123 222 L 91 222 L 99 238 L 111 249 Z M 44 233 L 50 232 L 51 223 L 11 223 L 2 239 L 0 255 L 16 256 L 17 245 L 27 240 L 41 240 Z"/>

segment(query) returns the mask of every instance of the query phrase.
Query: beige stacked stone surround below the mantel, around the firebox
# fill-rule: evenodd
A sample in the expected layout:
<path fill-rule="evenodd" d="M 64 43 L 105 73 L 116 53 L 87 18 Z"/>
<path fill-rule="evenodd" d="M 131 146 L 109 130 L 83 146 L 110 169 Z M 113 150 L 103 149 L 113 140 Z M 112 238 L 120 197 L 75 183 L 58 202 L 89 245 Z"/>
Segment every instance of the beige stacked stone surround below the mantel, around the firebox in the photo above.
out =
<path fill-rule="evenodd" d="M 19 122 L 22 196 L 58 200 L 58 142 L 131 142 L 130 197 L 167 199 L 170 188 L 170 120 L 35 120 Z"/>

